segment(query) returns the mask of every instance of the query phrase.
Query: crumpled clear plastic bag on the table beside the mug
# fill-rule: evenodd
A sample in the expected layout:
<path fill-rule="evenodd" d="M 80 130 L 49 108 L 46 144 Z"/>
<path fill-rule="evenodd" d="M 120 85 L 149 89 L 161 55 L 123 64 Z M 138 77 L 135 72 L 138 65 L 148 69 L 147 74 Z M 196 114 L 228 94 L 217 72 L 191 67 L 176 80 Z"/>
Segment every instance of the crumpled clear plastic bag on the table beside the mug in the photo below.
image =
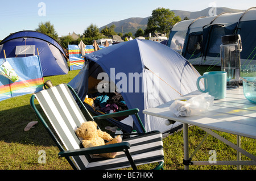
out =
<path fill-rule="evenodd" d="M 200 115 L 206 112 L 210 106 L 212 106 L 214 96 L 208 93 L 197 95 L 189 100 L 175 100 L 171 106 L 170 110 L 176 116 L 192 116 Z"/>

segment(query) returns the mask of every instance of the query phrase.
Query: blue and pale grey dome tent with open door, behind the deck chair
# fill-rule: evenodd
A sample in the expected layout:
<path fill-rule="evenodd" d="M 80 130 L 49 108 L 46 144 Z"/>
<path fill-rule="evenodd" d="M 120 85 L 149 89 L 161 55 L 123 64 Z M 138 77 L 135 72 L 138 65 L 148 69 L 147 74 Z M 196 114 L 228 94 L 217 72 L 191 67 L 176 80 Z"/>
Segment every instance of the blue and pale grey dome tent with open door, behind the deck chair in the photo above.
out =
<path fill-rule="evenodd" d="M 127 109 L 139 108 L 139 116 L 146 131 L 158 130 L 164 133 L 182 127 L 181 123 L 166 125 L 165 119 L 142 113 L 146 108 L 159 106 L 197 90 L 196 80 L 200 74 L 179 53 L 154 41 L 135 39 L 86 54 L 85 58 L 83 68 L 69 82 L 81 100 L 88 100 L 86 96 L 93 100 L 105 98 L 103 94 L 108 91 L 102 92 L 101 88 L 113 88 L 116 92 L 112 93 L 121 94 L 121 102 Z M 110 81 L 110 86 L 102 86 L 104 81 Z M 93 92 L 97 94 L 97 91 L 102 93 L 97 97 L 90 96 Z M 92 106 L 85 105 L 88 108 Z M 125 124 L 122 120 L 112 120 L 112 123 L 126 132 L 130 132 L 133 126 L 138 132 L 142 131 L 135 121 L 135 125 Z"/>

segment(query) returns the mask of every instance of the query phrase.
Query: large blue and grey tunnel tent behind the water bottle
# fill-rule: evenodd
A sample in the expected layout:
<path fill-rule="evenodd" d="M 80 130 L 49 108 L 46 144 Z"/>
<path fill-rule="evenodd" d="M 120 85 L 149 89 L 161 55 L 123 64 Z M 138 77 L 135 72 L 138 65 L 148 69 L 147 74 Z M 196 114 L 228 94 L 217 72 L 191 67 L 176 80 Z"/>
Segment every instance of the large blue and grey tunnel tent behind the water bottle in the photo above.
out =
<path fill-rule="evenodd" d="M 168 47 L 176 50 L 192 65 L 220 66 L 221 36 L 240 34 L 241 66 L 256 64 L 256 7 L 245 12 L 224 12 L 183 20 L 171 28 Z"/>

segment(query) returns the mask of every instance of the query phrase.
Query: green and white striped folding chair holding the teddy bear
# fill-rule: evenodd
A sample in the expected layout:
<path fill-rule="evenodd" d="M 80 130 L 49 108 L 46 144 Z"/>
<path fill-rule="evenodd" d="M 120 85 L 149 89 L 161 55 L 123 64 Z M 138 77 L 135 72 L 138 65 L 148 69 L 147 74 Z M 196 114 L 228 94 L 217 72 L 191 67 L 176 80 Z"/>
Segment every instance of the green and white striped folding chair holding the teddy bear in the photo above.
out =
<path fill-rule="evenodd" d="M 76 99 L 74 98 L 74 96 Z M 51 123 L 54 132 L 47 125 L 36 106 L 37 99 L 43 112 Z M 82 105 L 81 111 L 76 100 Z M 43 123 L 49 135 L 60 149 L 59 156 L 65 157 L 73 169 L 121 169 L 132 167 L 137 169 L 138 165 L 146 163 L 159 163 L 155 169 L 163 169 L 164 154 L 162 133 L 153 131 L 142 135 L 127 138 L 118 144 L 95 146 L 83 148 L 81 141 L 76 136 L 75 129 L 84 121 L 106 119 L 123 115 L 134 115 L 138 118 L 138 109 L 110 113 L 92 117 L 71 86 L 61 84 L 33 94 L 30 104 L 39 120 Z M 45 117 L 45 116 L 44 116 Z M 142 125 L 142 123 L 141 123 Z M 143 125 L 142 125 L 143 126 Z M 60 141 L 59 141 L 60 140 Z M 99 153 L 118 152 L 115 158 L 102 158 L 92 156 Z"/>

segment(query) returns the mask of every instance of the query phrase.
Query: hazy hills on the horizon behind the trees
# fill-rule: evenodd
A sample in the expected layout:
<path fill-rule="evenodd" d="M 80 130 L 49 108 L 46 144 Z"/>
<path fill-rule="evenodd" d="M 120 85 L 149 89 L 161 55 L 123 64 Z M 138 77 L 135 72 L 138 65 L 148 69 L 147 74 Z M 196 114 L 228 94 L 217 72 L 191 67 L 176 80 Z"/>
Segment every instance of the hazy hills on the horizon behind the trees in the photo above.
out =
<path fill-rule="evenodd" d="M 207 9 L 201 10 L 201 11 L 195 11 L 195 12 L 191 12 L 191 11 L 181 11 L 181 10 L 171 10 L 174 11 L 175 15 L 179 15 L 181 19 L 184 19 L 186 16 L 189 19 L 195 19 L 198 18 L 200 16 L 209 16 L 209 11 L 211 10 L 212 7 L 208 7 Z M 242 12 L 245 10 L 234 10 L 234 9 L 229 9 L 227 7 L 217 7 L 216 9 L 216 14 L 221 14 L 222 12 Z M 128 32 L 132 32 L 133 35 L 134 33 L 139 29 L 142 28 L 142 30 L 145 30 L 147 27 L 147 20 L 148 20 L 149 16 L 146 18 L 128 18 L 128 19 L 124 19 L 124 20 L 120 20 L 118 22 L 112 22 L 109 24 L 106 24 L 105 26 L 112 26 L 113 24 L 115 25 L 115 32 L 123 32 L 124 33 L 128 33 Z M 103 27 L 100 27 L 100 30 Z"/>

